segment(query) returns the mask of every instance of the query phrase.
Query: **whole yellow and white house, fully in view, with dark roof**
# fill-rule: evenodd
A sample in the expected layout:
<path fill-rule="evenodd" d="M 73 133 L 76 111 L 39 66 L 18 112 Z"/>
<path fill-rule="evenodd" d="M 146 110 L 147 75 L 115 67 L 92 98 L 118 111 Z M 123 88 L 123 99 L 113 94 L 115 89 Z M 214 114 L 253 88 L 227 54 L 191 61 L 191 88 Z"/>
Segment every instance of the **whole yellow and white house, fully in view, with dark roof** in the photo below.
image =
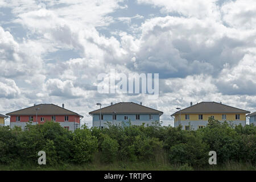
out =
<path fill-rule="evenodd" d="M 177 108 L 178 109 L 178 108 Z M 200 102 L 199 104 L 176 111 L 172 114 L 174 126 L 181 125 L 184 130 L 196 130 L 207 126 L 209 117 L 218 121 L 227 121 L 234 125 L 246 125 L 246 114 L 250 111 L 238 109 L 236 107 L 224 105 L 217 102 Z"/>

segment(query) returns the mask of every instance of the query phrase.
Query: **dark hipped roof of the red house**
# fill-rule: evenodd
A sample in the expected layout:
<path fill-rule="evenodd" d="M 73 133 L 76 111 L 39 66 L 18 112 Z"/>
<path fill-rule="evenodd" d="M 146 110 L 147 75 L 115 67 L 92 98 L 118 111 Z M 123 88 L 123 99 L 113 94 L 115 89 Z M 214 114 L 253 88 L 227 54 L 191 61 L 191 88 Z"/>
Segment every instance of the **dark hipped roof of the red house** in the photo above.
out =
<path fill-rule="evenodd" d="M 79 115 L 71 110 L 54 104 L 39 104 L 24 109 L 16 110 L 6 115 L 36 115 L 36 109 L 38 109 L 38 115 Z M 82 115 L 79 115 L 82 117 Z"/>

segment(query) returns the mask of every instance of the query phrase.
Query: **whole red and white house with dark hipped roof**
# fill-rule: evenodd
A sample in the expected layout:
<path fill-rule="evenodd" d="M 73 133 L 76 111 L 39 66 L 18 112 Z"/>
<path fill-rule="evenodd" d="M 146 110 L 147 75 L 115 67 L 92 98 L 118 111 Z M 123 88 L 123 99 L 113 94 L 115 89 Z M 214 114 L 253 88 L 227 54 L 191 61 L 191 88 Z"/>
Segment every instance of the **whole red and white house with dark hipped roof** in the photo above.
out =
<path fill-rule="evenodd" d="M 32 125 L 40 125 L 46 121 L 54 121 L 71 131 L 80 128 L 80 118 L 82 118 L 82 115 L 65 109 L 64 104 L 62 107 L 54 104 L 39 104 L 6 115 L 10 116 L 11 127 L 18 126 L 24 129 L 28 122 L 32 122 Z"/>

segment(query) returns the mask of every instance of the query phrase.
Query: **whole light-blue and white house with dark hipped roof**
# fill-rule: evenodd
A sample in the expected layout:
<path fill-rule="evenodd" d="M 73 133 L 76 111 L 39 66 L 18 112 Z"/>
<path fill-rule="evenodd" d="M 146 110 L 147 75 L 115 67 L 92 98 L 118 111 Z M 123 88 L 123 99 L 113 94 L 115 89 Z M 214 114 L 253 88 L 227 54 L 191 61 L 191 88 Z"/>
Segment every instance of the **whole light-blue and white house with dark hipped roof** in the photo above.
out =
<path fill-rule="evenodd" d="M 110 106 L 91 111 L 93 127 L 106 127 L 108 122 L 114 125 L 151 125 L 160 121 L 162 111 L 136 104 L 134 102 L 119 102 Z"/>

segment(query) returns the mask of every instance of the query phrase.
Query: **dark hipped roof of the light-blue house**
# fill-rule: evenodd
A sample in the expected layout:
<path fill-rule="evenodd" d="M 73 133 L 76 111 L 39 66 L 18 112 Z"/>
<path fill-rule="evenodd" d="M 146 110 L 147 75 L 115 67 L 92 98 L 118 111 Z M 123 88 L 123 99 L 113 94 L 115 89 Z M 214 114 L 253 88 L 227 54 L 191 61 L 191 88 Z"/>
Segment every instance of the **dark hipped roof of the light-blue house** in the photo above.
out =
<path fill-rule="evenodd" d="M 89 114 L 160 114 L 163 112 L 159 110 L 152 109 L 143 105 L 136 104 L 134 102 L 119 102 L 110 106 L 106 106 L 94 111 L 91 111 Z"/>

